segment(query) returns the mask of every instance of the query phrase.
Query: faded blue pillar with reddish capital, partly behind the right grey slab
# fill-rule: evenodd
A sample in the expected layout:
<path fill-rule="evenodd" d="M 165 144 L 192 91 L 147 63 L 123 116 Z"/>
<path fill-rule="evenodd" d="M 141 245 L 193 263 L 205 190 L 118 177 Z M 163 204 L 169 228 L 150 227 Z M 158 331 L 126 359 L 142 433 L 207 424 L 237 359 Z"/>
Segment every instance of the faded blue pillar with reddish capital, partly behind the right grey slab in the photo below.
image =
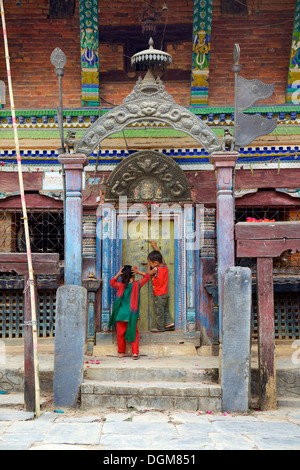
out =
<path fill-rule="evenodd" d="M 238 157 L 238 152 L 220 151 L 212 153 L 210 158 L 217 177 L 217 258 L 220 333 L 222 332 L 225 270 L 235 264 L 233 169 Z"/>

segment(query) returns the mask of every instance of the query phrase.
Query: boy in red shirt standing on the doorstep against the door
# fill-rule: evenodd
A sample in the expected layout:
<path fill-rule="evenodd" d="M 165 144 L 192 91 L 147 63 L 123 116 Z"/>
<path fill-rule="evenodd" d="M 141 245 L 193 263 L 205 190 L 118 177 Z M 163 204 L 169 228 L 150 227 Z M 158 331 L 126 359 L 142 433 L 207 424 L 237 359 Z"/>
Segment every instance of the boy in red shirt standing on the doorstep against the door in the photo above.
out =
<path fill-rule="evenodd" d="M 152 333 L 174 330 L 175 325 L 169 310 L 168 280 L 169 270 L 159 251 L 156 242 L 151 242 L 154 251 L 148 255 L 148 274 L 152 276 L 154 307 L 156 315 L 156 328 L 152 328 Z M 150 269 L 151 268 L 151 269 Z"/>

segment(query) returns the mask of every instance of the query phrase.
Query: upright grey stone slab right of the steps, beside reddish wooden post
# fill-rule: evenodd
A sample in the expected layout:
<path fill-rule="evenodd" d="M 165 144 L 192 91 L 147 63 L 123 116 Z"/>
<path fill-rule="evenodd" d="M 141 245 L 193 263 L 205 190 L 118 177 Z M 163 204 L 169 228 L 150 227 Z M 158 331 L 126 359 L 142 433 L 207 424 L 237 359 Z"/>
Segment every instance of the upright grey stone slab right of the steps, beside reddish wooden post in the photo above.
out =
<path fill-rule="evenodd" d="M 247 412 L 251 371 L 251 269 L 225 273 L 222 334 L 222 410 Z"/>

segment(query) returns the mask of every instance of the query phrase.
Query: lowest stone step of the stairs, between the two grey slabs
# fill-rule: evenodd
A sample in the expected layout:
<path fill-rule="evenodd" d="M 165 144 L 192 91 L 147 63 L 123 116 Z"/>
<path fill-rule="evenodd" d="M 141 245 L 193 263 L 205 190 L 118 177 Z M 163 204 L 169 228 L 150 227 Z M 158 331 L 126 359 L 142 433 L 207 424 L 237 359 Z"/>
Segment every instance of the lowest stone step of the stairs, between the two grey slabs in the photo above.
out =
<path fill-rule="evenodd" d="M 81 408 L 221 411 L 221 387 L 189 382 L 98 382 L 81 385 Z"/>

